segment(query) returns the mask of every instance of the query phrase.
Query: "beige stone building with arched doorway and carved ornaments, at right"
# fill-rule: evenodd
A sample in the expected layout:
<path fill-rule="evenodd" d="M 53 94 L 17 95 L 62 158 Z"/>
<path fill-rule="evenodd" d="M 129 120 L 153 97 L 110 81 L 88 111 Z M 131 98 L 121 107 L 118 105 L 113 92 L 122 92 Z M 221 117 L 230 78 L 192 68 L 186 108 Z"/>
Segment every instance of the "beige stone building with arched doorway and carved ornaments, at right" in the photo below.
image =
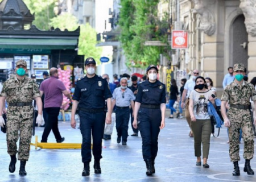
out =
<path fill-rule="evenodd" d="M 227 69 L 236 63 L 256 76 L 256 0 L 179 0 L 180 22 L 189 32 L 182 69 L 199 69 L 222 90 Z M 184 55 L 180 55 L 184 56 Z"/>

